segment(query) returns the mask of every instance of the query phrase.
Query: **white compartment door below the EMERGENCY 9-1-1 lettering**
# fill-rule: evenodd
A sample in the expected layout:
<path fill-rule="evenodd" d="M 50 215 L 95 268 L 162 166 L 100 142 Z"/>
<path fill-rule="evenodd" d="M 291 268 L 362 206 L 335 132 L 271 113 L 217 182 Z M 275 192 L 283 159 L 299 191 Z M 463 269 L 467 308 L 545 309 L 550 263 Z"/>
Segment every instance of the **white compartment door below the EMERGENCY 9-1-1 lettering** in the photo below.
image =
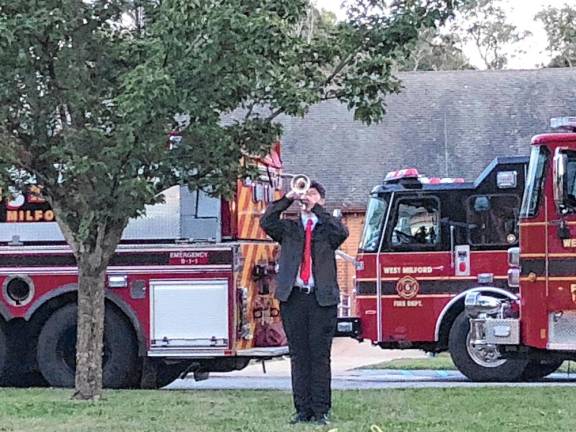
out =
<path fill-rule="evenodd" d="M 227 280 L 150 282 L 152 347 L 227 347 Z"/>

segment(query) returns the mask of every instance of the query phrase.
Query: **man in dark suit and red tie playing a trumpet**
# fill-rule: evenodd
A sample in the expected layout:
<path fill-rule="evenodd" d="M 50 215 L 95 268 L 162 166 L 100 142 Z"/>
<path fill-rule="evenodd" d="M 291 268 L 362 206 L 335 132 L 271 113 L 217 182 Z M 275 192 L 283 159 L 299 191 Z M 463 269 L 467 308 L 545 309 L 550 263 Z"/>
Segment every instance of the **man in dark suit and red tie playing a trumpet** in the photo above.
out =
<path fill-rule="evenodd" d="M 348 230 L 322 207 L 325 198 L 320 183 L 295 177 L 292 190 L 271 203 L 260 221 L 281 245 L 276 298 L 291 357 L 291 423 L 328 424 L 331 407 L 330 349 L 340 300 L 335 251 Z M 295 200 L 301 203 L 298 220 L 280 219 Z"/>

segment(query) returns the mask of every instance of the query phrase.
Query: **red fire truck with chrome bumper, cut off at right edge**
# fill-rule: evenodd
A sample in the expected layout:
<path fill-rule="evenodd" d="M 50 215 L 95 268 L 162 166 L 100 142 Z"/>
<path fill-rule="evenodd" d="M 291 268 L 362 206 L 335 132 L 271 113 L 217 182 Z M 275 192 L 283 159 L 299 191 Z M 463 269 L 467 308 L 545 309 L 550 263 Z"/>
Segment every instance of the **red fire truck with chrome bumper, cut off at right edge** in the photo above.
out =
<path fill-rule="evenodd" d="M 538 135 L 520 212 L 520 248 L 509 251 L 519 297 L 466 296 L 469 338 L 502 359 L 549 369 L 576 359 L 576 117 L 552 120 Z"/>

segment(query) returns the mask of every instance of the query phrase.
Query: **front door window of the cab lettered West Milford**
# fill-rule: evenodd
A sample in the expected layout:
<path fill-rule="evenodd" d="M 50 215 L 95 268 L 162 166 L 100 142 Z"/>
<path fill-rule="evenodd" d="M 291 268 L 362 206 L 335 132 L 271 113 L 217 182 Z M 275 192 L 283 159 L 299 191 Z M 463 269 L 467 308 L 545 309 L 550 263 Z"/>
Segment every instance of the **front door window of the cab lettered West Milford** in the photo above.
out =
<path fill-rule="evenodd" d="M 435 249 L 440 244 L 440 206 L 436 199 L 398 203 L 391 244 L 401 249 Z"/>

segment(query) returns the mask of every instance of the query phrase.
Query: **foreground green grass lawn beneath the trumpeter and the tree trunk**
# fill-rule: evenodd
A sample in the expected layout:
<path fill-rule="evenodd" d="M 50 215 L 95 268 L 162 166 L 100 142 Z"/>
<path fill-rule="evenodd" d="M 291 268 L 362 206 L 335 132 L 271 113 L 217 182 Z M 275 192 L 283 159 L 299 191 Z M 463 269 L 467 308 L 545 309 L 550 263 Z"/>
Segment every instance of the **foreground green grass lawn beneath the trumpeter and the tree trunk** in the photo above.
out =
<path fill-rule="evenodd" d="M 70 400 L 68 390 L 0 390 L 0 431 L 573 431 L 573 388 L 406 389 L 334 392 L 329 427 L 290 426 L 281 391 L 109 391 Z"/>

